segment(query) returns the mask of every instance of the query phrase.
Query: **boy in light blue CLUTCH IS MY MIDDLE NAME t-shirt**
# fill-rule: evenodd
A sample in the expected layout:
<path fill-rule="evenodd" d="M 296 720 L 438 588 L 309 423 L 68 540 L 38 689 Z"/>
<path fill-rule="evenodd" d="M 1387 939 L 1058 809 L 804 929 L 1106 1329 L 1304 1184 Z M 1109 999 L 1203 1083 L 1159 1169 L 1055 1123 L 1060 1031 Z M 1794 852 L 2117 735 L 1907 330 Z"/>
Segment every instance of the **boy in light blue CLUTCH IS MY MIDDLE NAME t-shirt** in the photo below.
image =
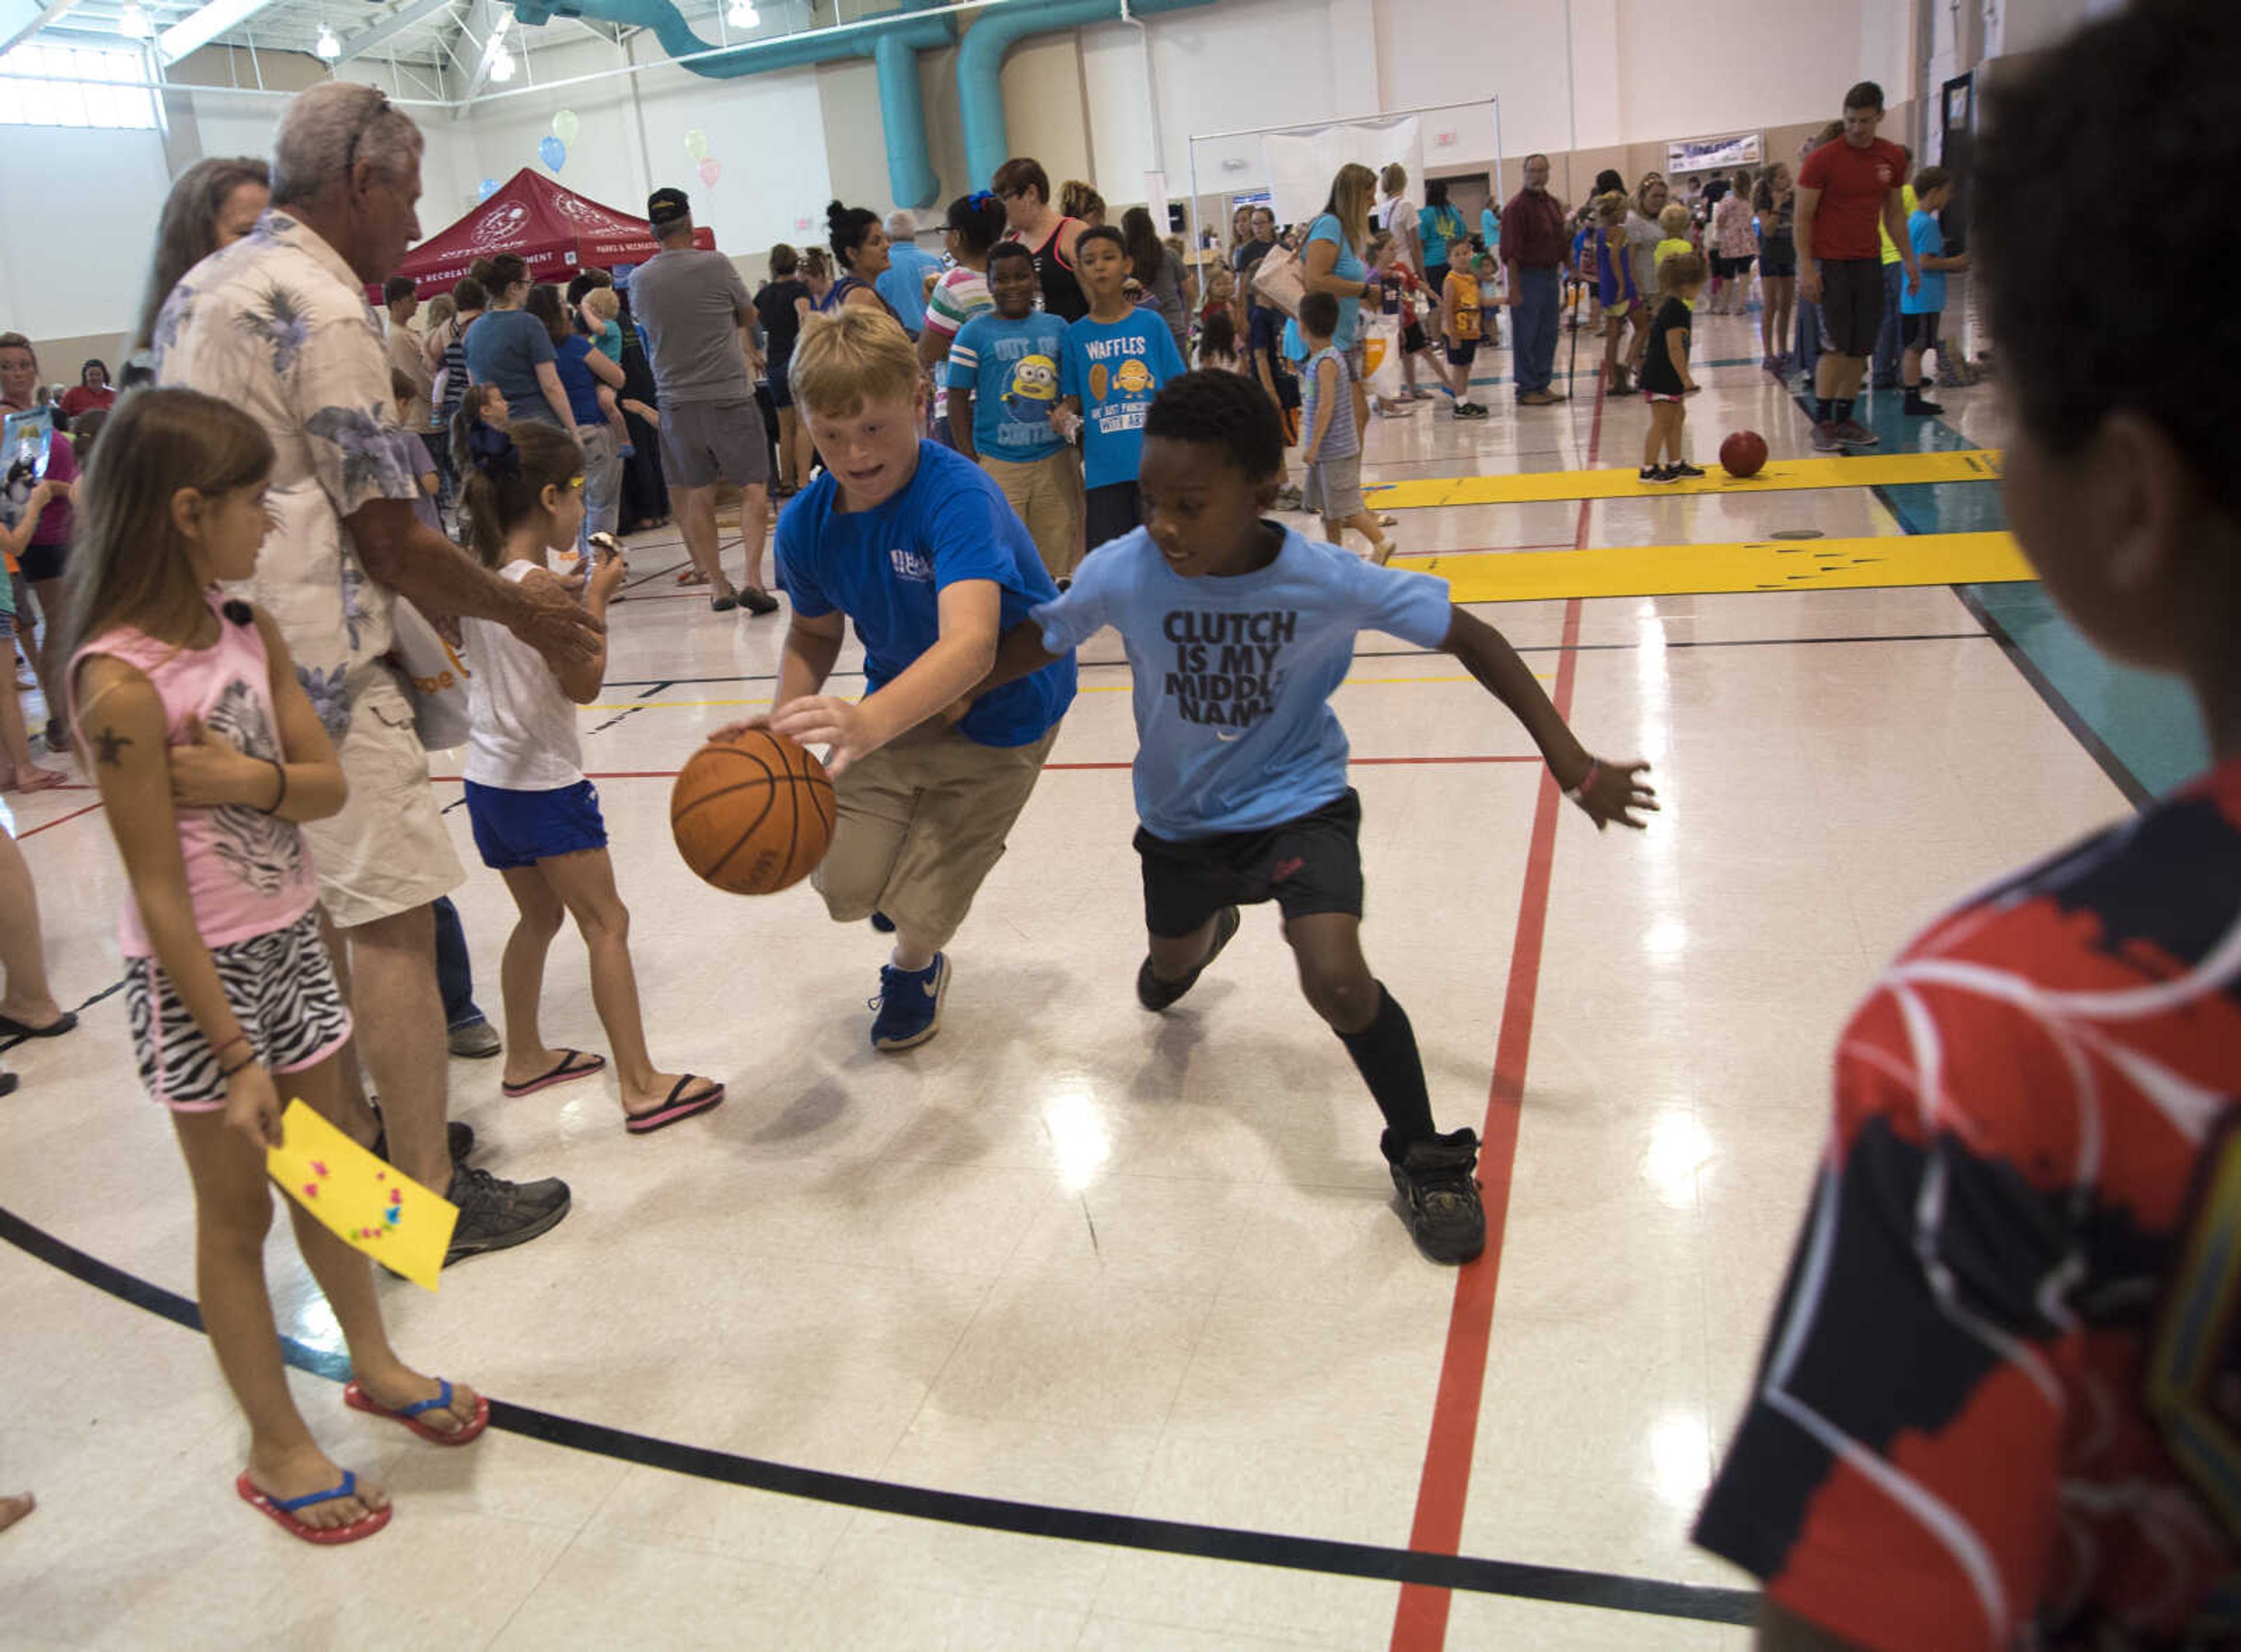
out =
<path fill-rule="evenodd" d="M 1582 750 L 1501 633 L 1448 600 L 1448 582 L 1380 569 L 1268 522 L 1284 477 L 1275 405 L 1248 378 L 1197 372 L 1145 423 L 1145 526 L 1082 562 L 1073 589 L 1004 633 L 988 692 L 1047 669 L 1100 627 L 1127 649 L 1136 707 L 1136 853 L 1150 954 L 1136 1001 L 1177 1003 L 1273 900 L 1309 1005 L 1385 1115 L 1383 1151 L 1416 1247 L 1468 1263 L 1486 1245 L 1477 1135 L 1432 1126 L 1407 1014 L 1363 958 L 1360 797 L 1331 694 L 1358 631 L 1443 649 L 1549 759 L 1596 826 L 1656 808 L 1643 763 Z"/>

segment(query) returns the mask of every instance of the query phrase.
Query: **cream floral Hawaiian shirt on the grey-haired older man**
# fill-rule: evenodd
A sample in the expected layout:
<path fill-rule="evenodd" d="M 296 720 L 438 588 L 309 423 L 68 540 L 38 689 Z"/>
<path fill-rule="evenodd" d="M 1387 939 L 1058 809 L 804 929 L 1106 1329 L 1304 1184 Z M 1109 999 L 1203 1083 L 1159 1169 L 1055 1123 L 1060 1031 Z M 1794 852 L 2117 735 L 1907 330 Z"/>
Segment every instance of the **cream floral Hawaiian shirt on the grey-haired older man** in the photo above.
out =
<path fill-rule="evenodd" d="M 278 622 L 341 743 L 352 698 L 385 669 L 394 602 L 365 578 L 343 519 L 419 492 L 365 287 L 309 226 L 269 210 L 170 291 L 155 354 L 157 383 L 231 401 L 273 439 L 273 528 L 244 593 Z"/>

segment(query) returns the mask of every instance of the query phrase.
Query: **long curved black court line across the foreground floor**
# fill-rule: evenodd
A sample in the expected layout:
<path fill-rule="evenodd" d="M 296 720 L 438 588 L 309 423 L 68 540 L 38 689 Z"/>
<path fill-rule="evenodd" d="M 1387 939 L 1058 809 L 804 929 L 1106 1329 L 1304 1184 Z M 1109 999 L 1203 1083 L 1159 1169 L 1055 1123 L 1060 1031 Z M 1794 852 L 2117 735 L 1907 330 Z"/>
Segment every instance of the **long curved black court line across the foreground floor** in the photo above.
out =
<path fill-rule="evenodd" d="M 87 1256 L 78 1247 L 22 1220 L 7 1207 L 0 1207 L 0 1238 L 81 1283 L 108 1292 L 121 1303 L 143 1307 L 159 1318 L 168 1318 L 173 1325 L 202 1330 L 202 1310 L 190 1298 L 103 1263 L 99 1256 Z M 282 1336 L 280 1348 L 287 1363 L 296 1370 L 325 1377 L 327 1381 L 347 1381 L 350 1377 L 350 1359 L 345 1354 L 311 1348 L 291 1336 Z M 491 1401 L 491 1426 L 529 1439 L 542 1439 L 551 1446 L 692 1475 L 695 1480 L 715 1480 L 728 1486 L 773 1491 L 784 1498 L 809 1498 L 813 1502 L 908 1515 L 912 1520 L 941 1520 L 982 1531 L 1013 1531 L 1024 1538 L 1103 1542 L 1114 1549 L 1143 1549 L 1194 1560 L 1235 1560 L 1255 1567 L 1369 1578 L 1374 1583 L 1419 1583 L 1434 1589 L 1470 1589 L 1475 1594 L 1602 1607 L 1605 1612 L 1638 1612 L 1694 1623 L 1752 1623 L 1759 1603 L 1752 1589 L 1717 1589 L 1699 1583 L 1629 1578 L 1616 1571 L 1580 1571 L 1519 1560 L 1421 1554 L 1416 1549 L 1389 1549 L 1374 1542 L 1293 1538 L 1282 1531 L 1206 1527 L 1190 1520 L 1147 1520 L 1143 1515 L 1103 1513 L 1096 1509 L 1062 1509 L 1044 1502 L 1013 1502 L 1011 1498 L 903 1486 L 890 1480 L 838 1475 L 825 1468 L 802 1468 L 766 1457 L 742 1457 L 731 1451 L 654 1439 L 652 1435 L 634 1435 L 627 1428 L 607 1428 L 605 1424 L 560 1417 L 533 1406 L 515 1406 L 506 1399 Z"/>

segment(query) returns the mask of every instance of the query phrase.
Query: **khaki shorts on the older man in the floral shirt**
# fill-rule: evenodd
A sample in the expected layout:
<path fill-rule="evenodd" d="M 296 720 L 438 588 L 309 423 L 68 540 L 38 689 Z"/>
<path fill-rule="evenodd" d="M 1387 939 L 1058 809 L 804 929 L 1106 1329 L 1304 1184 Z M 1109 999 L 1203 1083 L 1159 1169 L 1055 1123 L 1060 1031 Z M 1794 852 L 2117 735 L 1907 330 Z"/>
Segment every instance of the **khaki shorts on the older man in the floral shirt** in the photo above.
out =
<path fill-rule="evenodd" d="M 385 669 L 359 689 L 341 757 L 350 801 L 303 828 L 318 904 L 334 927 L 394 918 L 466 882 L 428 783 L 428 752 L 412 732 L 412 705 Z"/>

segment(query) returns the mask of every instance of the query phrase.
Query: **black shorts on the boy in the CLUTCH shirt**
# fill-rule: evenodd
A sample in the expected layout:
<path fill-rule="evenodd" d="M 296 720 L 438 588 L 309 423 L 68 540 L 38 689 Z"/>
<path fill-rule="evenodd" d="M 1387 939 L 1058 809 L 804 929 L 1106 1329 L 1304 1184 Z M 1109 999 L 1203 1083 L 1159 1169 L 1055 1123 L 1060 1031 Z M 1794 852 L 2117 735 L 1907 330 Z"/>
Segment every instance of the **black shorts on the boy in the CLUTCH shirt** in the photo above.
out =
<path fill-rule="evenodd" d="M 1224 907 L 1273 900 L 1286 920 L 1318 911 L 1363 916 L 1363 799 L 1347 790 L 1313 815 L 1253 833 L 1170 842 L 1136 830 L 1143 927 L 1170 940 Z"/>

